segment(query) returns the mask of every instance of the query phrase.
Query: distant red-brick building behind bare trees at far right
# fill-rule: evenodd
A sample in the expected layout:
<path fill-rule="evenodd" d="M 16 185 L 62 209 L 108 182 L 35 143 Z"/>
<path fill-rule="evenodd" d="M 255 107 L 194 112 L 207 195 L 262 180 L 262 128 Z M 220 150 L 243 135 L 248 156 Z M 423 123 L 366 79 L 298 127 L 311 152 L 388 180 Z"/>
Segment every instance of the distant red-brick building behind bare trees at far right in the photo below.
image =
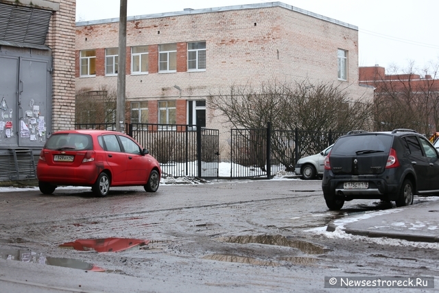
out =
<path fill-rule="evenodd" d="M 375 65 L 359 67 L 359 82 L 375 89 L 376 130 L 411 128 L 426 135 L 439 130 L 439 80 L 431 75 L 386 74 Z"/>

